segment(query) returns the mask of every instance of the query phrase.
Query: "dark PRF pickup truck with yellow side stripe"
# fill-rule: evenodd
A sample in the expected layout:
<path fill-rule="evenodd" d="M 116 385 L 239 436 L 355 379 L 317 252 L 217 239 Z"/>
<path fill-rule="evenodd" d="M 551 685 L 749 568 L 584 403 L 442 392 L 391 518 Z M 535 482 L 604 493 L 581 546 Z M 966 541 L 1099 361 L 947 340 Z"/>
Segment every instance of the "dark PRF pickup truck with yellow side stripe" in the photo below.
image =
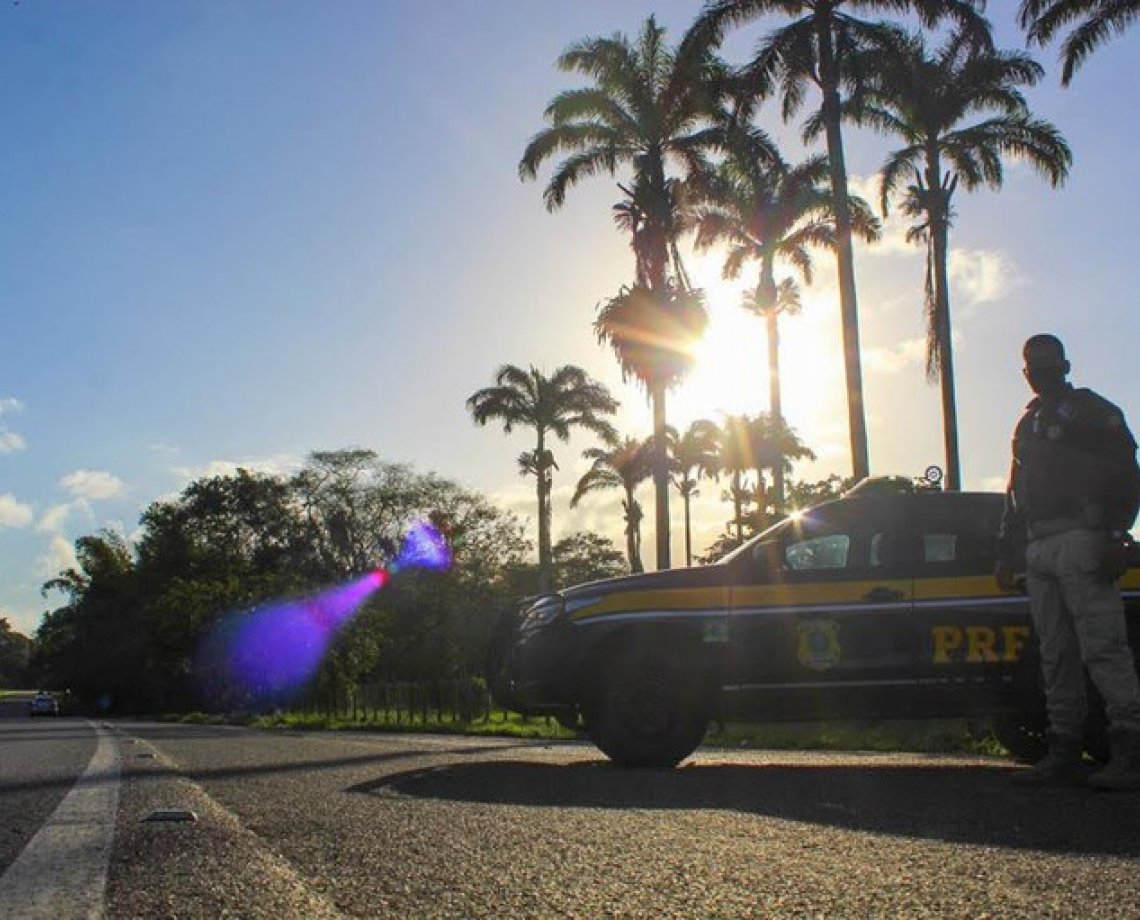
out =
<path fill-rule="evenodd" d="M 857 487 L 711 565 L 528 599 L 500 628 L 491 687 L 622 766 L 676 765 L 714 717 L 988 718 L 1032 758 L 1044 701 L 1028 599 L 993 575 L 1001 507 Z M 1140 559 L 1122 591 L 1140 649 Z M 1092 695 L 1086 746 L 1102 756 Z"/>

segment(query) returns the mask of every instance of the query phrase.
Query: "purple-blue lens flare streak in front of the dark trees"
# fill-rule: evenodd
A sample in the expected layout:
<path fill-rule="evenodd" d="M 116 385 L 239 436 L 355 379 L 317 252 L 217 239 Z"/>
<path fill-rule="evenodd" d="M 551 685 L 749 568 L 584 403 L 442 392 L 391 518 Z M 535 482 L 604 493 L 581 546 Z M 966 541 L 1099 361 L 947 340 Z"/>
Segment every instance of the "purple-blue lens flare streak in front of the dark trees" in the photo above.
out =
<path fill-rule="evenodd" d="M 450 565 L 443 536 L 426 522 L 409 528 L 391 570 L 375 569 L 308 597 L 222 617 L 203 637 L 195 661 L 198 689 L 212 705 L 282 705 L 294 699 L 320 667 L 328 646 L 397 569 L 443 571 Z"/>

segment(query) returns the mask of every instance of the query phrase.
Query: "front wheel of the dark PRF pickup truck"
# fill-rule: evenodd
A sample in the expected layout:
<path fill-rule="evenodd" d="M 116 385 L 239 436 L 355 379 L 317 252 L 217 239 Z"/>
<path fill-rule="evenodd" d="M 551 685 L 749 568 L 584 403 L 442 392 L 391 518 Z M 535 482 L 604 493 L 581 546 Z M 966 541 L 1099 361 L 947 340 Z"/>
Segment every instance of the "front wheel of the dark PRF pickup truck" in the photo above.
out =
<path fill-rule="evenodd" d="M 593 742 L 622 767 L 674 767 L 709 724 L 701 677 L 679 656 L 629 648 L 614 654 L 587 707 Z"/>

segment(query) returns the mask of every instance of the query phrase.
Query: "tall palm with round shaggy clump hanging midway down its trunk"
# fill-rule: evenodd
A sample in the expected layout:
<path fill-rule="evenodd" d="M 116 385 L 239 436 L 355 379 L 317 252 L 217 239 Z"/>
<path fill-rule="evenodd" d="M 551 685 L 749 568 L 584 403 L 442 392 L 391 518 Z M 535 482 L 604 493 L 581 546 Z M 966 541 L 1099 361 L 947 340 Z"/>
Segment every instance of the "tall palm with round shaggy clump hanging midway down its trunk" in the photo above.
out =
<path fill-rule="evenodd" d="M 652 16 L 636 42 L 620 33 L 586 39 L 568 48 L 559 66 L 588 76 L 592 83 L 551 101 L 546 108 L 549 127 L 527 145 L 519 174 L 534 179 L 547 160 L 568 154 L 544 193 L 547 210 L 554 211 L 581 179 L 632 168 L 633 190 L 624 190 L 636 209 L 636 284 L 671 296 L 674 288 L 684 290 L 687 284 L 674 261 L 677 180 L 670 178 L 669 166 L 698 169 L 703 152 L 715 144 L 718 131 L 709 124 L 709 112 L 723 68 L 708 50 L 679 58 Z M 656 443 L 663 451 L 665 389 L 651 385 L 650 399 Z M 669 567 L 669 491 L 663 453 L 656 456 L 653 478 L 657 564 L 665 569 Z"/>

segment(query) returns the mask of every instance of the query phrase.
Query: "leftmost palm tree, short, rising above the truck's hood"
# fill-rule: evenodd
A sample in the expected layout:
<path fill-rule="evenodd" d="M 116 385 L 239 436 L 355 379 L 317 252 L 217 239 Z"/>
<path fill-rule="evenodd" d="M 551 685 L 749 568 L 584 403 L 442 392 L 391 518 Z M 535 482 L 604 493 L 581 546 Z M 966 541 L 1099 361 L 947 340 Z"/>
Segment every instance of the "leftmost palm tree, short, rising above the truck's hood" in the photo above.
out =
<path fill-rule="evenodd" d="M 613 438 L 613 426 L 605 416 L 617 412 L 618 401 L 580 367 L 564 365 L 547 377 L 534 366 L 523 371 L 505 364 L 495 373 L 494 386 L 467 398 L 467 409 L 479 425 L 497 421 L 506 433 L 516 425 L 535 430 L 535 449 L 523 454 L 519 465 L 523 475 L 534 475 L 537 482 L 539 591 L 549 591 L 551 485 L 556 464 L 547 438 L 553 434 L 565 441 L 575 429 Z"/>

